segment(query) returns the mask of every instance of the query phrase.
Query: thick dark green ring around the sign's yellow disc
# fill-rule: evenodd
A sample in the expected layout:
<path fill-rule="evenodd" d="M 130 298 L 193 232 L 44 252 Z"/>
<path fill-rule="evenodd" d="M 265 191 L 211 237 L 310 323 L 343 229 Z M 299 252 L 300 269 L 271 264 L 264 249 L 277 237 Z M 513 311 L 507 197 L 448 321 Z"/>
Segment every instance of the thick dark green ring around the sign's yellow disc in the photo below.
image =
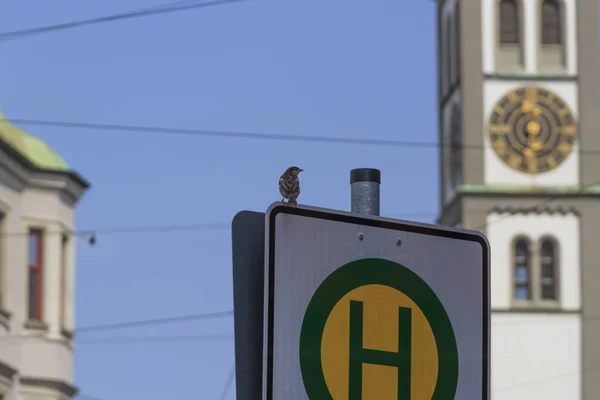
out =
<path fill-rule="evenodd" d="M 458 347 L 444 306 L 413 271 L 377 258 L 352 261 L 338 268 L 321 283 L 308 303 L 300 331 L 300 369 L 308 398 L 333 400 L 323 374 L 323 331 L 338 301 L 365 285 L 389 286 L 419 306 L 431 326 L 438 352 L 438 378 L 431 400 L 454 400 L 458 386 Z"/>

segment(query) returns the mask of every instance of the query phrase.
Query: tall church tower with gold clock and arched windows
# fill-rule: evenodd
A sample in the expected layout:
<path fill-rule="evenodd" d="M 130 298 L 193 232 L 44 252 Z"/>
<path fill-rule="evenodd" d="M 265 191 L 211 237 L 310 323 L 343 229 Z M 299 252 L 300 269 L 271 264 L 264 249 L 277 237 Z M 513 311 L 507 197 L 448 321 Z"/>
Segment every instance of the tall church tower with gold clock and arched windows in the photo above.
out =
<path fill-rule="evenodd" d="M 491 243 L 493 400 L 600 399 L 597 0 L 438 0 L 440 217 Z"/>

